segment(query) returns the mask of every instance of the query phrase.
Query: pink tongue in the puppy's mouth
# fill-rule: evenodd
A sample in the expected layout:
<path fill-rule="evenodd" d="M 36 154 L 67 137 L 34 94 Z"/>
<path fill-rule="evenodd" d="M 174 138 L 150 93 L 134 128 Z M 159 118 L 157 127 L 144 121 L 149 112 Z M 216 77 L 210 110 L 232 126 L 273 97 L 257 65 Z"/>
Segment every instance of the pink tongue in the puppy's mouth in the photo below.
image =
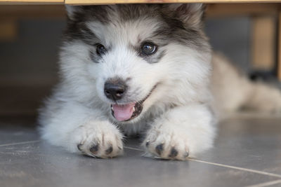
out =
<path fill-rule="evenodd" d="M 133 106 L 135 106 L 135 103 L 124 105 L 113 104 L 112 108 L 115 118 L 119 121 L 129 120 L 129 118 L 131 118 L 131 116 L 133 115 Z"/>

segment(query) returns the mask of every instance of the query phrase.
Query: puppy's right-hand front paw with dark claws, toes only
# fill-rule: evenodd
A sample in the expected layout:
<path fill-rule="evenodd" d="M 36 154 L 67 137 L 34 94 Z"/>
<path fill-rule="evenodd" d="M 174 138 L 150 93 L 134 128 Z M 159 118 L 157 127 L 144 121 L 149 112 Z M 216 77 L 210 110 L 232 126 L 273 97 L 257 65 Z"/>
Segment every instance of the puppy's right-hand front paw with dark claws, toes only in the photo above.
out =
<path fill-rule="evenodd" d="M 153 127 L 143 146 L 150 155 L 164 159 L 186 160 L 190 155 L 187 134 L 170 128 Z"/>

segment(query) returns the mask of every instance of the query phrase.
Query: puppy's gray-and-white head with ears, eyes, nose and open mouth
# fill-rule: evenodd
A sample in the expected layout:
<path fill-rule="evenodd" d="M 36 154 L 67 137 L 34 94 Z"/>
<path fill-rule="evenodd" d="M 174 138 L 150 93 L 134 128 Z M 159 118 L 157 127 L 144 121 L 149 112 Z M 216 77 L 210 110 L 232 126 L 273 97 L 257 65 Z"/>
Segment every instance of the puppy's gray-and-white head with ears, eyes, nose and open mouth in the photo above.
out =
<path fill-rule="evenodd" d="M 209 70 L 201 9 L 201 4 L 68 7 L 63 76 L 123 122 L 140 119 L 154 104 L 191 97 L 191 85 L 200 85 Z"/>

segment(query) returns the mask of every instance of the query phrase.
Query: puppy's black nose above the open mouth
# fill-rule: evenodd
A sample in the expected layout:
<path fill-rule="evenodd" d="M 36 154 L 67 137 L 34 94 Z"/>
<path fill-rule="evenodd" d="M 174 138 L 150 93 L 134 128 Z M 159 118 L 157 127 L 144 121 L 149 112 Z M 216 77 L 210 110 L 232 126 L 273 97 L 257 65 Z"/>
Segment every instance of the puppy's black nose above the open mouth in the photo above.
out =
<path fill-rule="evenodd" d="M 105 82 L 105 96 L 108 99 L 118 100 L 121 99 L 126 91 L 126 83 L 120 79 L 110 79 Z"/>

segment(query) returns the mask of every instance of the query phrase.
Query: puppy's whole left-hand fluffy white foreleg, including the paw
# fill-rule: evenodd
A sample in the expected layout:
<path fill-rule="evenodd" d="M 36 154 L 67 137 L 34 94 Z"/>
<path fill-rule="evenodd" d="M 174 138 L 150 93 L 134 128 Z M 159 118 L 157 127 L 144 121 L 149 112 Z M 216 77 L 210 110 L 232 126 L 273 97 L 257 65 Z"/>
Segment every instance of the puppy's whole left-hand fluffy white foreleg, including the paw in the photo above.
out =
<path fill-rule="evenodd" d="M 122 133 L 101 111 L 71 102 L 50 108 L 41 113 L 41 135 L 51 144 L 100 158 L 123 153 Z"/>

